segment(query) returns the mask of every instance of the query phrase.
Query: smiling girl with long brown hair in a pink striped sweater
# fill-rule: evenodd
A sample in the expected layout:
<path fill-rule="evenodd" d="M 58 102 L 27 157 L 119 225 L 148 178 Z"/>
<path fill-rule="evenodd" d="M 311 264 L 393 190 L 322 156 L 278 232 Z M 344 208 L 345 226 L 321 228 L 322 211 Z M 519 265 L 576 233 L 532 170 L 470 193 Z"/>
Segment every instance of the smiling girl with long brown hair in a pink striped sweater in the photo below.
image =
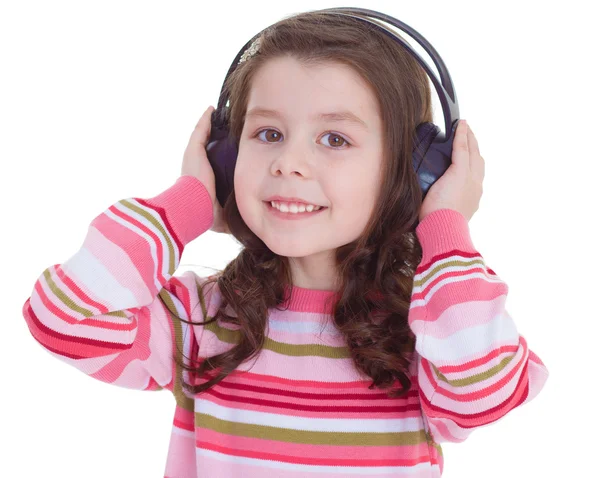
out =
<path fill-rule="evenodd" d="M 98 380 L 174 394 L 167 477 L 441 476 L 441 442 L 548 375 L 469 235 L 484 178 L 473 132 L 460 124 L 421 201 L 427 76 L 350 17 L 276 23 L 227 88 L 239 155 L 225 207 L 209 107 L 175 184 L 110 206 L 40 275 L 23 307 L 32 335 Z M 208 229 L 239 256 L 174 275 Z"/>

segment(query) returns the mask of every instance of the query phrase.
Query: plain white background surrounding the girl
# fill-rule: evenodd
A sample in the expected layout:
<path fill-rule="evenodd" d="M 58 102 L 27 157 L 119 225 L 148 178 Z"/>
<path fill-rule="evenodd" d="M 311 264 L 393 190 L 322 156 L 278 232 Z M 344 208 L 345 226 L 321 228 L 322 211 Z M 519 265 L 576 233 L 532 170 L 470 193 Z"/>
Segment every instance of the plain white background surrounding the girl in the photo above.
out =
<path fill-rule="evenodd" d="M 357 6 L 408 23 L 446 62 L 486 161 L 473 242 L 509 285 L 507 310 L 550 370 L 533 402 L 444 445 L 444 478 L 598 476 L 594 2 L 232 4 L 1 4 L 0 475 L 163 476 L 172 395 L 111 387 L 54 359 L 21 307 L 96 215 L 175 182 L 194 125 L 252 35 L 292 13 Z M 238 249 L 206 232 L 178 273 L 224 267 Z"/>

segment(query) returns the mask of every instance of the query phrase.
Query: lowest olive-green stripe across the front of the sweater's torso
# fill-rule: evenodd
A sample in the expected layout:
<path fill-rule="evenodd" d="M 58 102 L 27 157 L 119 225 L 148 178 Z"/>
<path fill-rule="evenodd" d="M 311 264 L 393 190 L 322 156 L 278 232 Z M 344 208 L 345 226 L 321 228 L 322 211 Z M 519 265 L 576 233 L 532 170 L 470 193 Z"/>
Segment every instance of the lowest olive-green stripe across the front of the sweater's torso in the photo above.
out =
<path fill-rule="evenodd" d="M 195 413 L 194 422 L 197 427 L 208 428 L 227 435 L 307 445 L 406 446 L 419 445 L 427 441 L 425 430 L 387 433 L 315 432 L 221 420 L 205 413 Z"/>

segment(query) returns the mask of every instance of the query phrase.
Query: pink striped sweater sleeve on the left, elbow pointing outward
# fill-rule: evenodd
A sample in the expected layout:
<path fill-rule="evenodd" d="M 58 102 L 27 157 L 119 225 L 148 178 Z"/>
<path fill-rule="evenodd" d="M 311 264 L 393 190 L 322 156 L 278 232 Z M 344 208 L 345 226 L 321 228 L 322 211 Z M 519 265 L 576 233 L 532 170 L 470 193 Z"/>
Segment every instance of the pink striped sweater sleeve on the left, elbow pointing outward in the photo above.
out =
<path fill-rule="evenodd" d="M 192 273 L 173 277 L 184 246 L 208 230 L 204 185 L 182 176 L 152 199 L 121 200 L 90 224 L 82 247 L 48 267 L 23 305 L 33 337 L 89 376 L 126 388 L 175 391 L 174 352 L 191 352 L 200 302 Z"/>

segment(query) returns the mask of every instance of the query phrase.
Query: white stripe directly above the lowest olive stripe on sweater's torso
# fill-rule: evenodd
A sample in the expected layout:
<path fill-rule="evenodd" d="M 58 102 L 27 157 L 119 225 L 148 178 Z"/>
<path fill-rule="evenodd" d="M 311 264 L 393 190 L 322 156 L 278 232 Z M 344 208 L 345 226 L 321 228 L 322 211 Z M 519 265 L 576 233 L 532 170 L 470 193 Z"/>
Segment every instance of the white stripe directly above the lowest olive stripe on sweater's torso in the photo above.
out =
<path fill-rule="evenodd" d="M 220 420 L 311 432 L 398 433 L 424 429 L 422 417 L 406 418 L 315 418 L 257 412 L 225 407 L 196 397 L 196 413 Z"/>

